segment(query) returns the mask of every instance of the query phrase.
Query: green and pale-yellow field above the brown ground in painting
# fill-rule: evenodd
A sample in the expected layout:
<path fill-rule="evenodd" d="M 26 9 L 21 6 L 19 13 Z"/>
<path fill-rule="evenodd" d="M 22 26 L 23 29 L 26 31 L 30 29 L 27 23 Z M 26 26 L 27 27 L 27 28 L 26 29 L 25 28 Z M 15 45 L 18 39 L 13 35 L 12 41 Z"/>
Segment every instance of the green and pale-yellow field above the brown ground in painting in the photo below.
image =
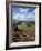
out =
<path fill-rule="evenodd" d="M 19 29 L 23 30 L 23 31 L 35 31 L 35 23 L 25 23 L 25 24 L 20 24 L 18 26 Z"/>

